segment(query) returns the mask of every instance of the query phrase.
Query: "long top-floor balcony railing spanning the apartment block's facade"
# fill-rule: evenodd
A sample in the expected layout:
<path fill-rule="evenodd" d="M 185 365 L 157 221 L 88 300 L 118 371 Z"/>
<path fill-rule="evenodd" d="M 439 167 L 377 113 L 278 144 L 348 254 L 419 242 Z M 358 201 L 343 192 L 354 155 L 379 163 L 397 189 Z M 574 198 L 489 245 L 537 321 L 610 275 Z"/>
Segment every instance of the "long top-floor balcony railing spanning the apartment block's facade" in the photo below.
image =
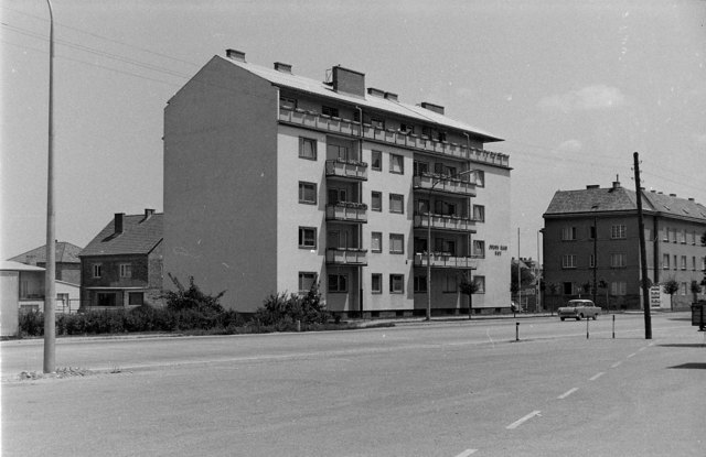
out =
<path fill-rule="evenodd" d="M 302 109 L 279 108 L 279 121 L 295 126 L 308 127 L 336 134 L 351 137 L 361 135 L 360 122 L 341 119 L 327 115 L 319 115 Z M 442 154 L 461 160 L 488 163 L 491 165 L 510 167 L 510 156 L 500 152 L 486 151 L 478 148 L 469 148 L 462 144 L 435 141 L 425 135 L 400 132 L 392 129 L 378 129 L 370 124 L 363 124 L 363 138 L 388 144 L 411 148 L 424 152 Z"/>

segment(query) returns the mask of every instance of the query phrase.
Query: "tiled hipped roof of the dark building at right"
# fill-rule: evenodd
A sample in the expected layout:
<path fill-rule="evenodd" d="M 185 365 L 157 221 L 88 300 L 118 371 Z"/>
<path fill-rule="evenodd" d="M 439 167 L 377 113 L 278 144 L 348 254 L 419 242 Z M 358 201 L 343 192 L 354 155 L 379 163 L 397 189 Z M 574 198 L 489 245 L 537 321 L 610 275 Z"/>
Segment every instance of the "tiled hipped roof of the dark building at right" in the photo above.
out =
<path fill-rule="evenodd" d="M 557 191 L 545 216 L 593 211 L 629 211 L 638 209 L 634 191 L 623 187 Z M 686 198 L 653 192 L 642 193 L 642 209 L 673 217 L 700 219 L 706 222 L 706 207 Z"/>

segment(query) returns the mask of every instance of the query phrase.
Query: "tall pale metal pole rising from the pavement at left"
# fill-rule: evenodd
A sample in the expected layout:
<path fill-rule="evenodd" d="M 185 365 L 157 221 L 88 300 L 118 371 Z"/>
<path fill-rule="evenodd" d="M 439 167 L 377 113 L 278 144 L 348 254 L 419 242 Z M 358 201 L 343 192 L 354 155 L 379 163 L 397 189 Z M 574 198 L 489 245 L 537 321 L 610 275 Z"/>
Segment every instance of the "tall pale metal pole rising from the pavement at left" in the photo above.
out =
<path fill-rule="evenodd" d="M 44 275 L 44 372 L 56 371 L 55 340 L 56 328 L 54 307 L 56 304 L 56 248 L 54 236 L 54 13 L 52 2 L 49 6 L 49 152 L 46 175 L 46 270 Z"/>

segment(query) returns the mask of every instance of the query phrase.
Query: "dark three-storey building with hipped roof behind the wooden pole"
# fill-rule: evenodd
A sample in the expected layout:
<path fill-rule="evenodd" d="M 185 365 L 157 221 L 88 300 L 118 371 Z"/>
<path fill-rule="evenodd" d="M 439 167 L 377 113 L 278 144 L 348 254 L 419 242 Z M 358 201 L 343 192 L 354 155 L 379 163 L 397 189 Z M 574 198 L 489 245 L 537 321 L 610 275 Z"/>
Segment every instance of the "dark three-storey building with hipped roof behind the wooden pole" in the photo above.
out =
<path fill-rule="evenodd" d="M 694 300 L 704 278 L 706 207 L 693 198 L 642 192 L 648 278 L 675 280 L 675 307 Z M 637 194 L 614 182 L 558 191 L 544 214 L 544 279 L 547 301 L 592 297 L 610 309 L 641 308 L 640 233 Z M 596 253 L 596 254 L 595 254 Z M 593 272 L 596 272 L 593 276 Z M 704 296 L 704 290 L 699 296 Z"/>

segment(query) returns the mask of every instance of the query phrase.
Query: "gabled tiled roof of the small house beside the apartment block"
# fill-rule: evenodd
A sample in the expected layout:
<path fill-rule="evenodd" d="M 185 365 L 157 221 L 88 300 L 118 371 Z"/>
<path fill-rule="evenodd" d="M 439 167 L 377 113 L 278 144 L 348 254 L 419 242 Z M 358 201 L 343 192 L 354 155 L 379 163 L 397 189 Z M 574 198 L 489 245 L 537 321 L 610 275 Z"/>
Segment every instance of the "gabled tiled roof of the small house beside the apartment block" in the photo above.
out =
<path fill-rule="evenodd" d="M 122 232 L 116 233 L 115 219 L 94 238 L 79 257 L 148 254 L 162 241 L 163 214 L 122 216 Z"/>

